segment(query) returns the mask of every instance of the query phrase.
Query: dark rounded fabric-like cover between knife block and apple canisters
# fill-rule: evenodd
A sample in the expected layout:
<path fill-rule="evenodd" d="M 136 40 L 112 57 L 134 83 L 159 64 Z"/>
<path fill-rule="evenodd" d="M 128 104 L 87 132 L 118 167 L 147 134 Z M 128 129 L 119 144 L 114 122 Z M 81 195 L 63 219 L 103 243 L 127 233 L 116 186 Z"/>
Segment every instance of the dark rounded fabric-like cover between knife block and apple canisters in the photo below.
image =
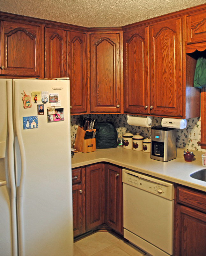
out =
<path fill-rule="evenodd" d="M 116 148 L 117 130 L 112 122 L 100 122 L 96 126 L 96 148 Z"/>

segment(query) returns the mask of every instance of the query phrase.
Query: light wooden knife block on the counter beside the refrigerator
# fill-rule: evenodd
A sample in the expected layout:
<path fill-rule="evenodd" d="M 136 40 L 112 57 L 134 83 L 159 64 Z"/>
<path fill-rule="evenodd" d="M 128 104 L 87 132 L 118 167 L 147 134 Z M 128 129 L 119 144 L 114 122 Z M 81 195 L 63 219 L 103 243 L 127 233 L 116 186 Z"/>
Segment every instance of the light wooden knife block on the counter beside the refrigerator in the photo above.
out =
<path fill-rule="evenodd" d="M 89 132 L 96 131 L 96 129 L 93 130 L 87 130 Z M 87 139 L 85 140 L 85 132 L 82 127 L 77 128 L 77 135 L 74 142 L 74 148 L 80 152 L 88 153 L 92 151 L 96 151 L 96 140 L 95 138 Z"/>

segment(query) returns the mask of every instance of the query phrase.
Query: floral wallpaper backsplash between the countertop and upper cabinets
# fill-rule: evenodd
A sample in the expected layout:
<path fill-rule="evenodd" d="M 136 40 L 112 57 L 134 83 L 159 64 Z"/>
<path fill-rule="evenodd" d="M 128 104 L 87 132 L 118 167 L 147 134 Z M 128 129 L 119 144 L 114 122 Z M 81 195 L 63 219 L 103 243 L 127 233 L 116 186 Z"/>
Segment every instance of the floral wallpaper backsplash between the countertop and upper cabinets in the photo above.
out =
<path fill-rule="evenodd" d="M 97 119 L 98 122 L 112 122 L 117 130 L 118 137 L 122 137 L 125 132 L 132 134 L 140 133 L 144 138 L 151 137 L 151 128 L 129 125 L 127 123 L 127 115 L 120 114 L 96 114 L 96 115 L 83 115 L 84 117 L 91 117 Z M 162 117 L 152 117 L 152 126 L 161 125 Z M 77 133 L 77 127 L 80 123 L 80 115 L 71 116 L 71 140 Z M 198 139 L 191 140 L 188 138 L 188 129 L 198 129 Z M 201 134 L 201 120 L 200 117 L 187 119 L 187 127 L 185 129 L 176 129 L 176 146 L 178 148 L 189 148 L 192 150 L 204 151 L 197 144 L 200 141 Z"/>

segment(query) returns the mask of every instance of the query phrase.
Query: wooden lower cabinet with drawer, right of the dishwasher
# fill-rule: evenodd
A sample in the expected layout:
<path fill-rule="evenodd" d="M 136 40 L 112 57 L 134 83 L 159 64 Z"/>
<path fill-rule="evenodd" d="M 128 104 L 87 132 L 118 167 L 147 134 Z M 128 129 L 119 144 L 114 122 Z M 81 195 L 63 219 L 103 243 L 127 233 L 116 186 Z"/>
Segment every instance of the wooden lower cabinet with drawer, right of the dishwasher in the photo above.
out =
<path fill-rule="evenodd" d="M 174 256 L 205 256 L 206 194 L 177 186 L 174 211 Z"/>

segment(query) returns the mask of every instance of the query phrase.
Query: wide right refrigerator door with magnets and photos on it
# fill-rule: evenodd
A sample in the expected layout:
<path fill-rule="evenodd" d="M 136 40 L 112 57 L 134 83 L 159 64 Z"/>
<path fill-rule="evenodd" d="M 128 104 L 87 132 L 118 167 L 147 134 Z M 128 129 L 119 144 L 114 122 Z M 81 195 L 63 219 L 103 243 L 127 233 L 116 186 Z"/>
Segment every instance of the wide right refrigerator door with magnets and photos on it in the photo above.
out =
<path fill-rule="evenodd" d="M 13 81 L 13 90 L 15 148 L 21 157 L 16 157 L 19 256 L 72 256 L 69 81 L 18 79 Z M 48 122 L 49 100 L 44 115 L 37 115 L 41 99 L 37 104 L 32 99 L 32 107 L 24 108 L 24 92 L 31 96 L 41 91 L 58 93 L 63 121 Z M 37 128 L 23 129 L 23 117 L 31 116 L 37 116 Z"/>

